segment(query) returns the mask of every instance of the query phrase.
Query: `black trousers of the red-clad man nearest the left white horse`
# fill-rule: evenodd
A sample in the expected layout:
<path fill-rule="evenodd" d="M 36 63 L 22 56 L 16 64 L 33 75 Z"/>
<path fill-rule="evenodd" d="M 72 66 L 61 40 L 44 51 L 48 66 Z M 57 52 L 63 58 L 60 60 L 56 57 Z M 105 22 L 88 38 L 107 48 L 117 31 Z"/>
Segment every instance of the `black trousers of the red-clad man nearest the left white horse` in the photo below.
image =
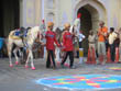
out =
<path fill-rule="evenodd" d="M 47 61 L 46 61 L 46 68 L 51 67 L 51 59 L 53 61 L 54 68 L 56 67 L 55 65 L 55 59 L 54 59 L 54 52 L 53 50 L 47 50 Z"/>

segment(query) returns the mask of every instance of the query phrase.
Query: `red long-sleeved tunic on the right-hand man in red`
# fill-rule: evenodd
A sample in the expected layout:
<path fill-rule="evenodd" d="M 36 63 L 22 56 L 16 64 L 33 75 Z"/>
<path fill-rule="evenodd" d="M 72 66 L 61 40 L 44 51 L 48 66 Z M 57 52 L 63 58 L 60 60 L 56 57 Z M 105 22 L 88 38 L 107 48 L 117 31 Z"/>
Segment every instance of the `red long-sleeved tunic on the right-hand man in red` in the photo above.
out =
<path fill-rule="evenodd" d="M 63 46 L 65 52 L 70 52 L 74 49 L 73 35 L 68 31 L 63 35 Z"/>

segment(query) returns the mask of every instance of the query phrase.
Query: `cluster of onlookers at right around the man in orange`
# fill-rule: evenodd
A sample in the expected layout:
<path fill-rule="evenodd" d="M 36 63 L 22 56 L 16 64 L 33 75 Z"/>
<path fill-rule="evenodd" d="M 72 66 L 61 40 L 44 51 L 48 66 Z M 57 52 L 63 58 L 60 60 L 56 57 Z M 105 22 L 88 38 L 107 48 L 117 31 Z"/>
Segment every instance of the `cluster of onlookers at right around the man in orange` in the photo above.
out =
<path fill-rule="evenodd" d="M 105 26 L 103 21 L 100 21 L 99 26 L 100 29 L 98 30 L 97 34 L 90 31 L 90 34 L 88 36 L 89 48 L 91 50 L 94 48 L 97 52 L 99 64 L 106 64 L 108 50 L 110 50 L 111 61 L 114 62 L 116 48 L 119 48 L 121 45 L 121 29 L 119 31 L 116 31 L 114 27 L 110 27 L 110 30 L 108 31 L 108 27 Z"/>

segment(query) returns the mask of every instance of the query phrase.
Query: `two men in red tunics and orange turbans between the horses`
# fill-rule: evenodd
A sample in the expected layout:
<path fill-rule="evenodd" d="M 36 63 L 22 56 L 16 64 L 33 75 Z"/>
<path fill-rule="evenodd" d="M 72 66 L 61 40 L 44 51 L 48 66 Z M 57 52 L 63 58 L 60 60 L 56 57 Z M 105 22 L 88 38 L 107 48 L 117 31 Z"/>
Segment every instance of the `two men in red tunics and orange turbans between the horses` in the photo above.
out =
<path fill-rule="evenodd" d="M 64 67 L 64 64 L 65 64 L 67 57 L 69 56 L 69 59 L 70 59 L 69 68 L 75 68 L 74 67 L 74 53 L 73 53 L 73 50 L 74 50 L 73 39 L 75 37 L 75 34 L 69 32 L 70 24 L 69 23 L 65 24 L 65 30 L 62 34 L 62 38 L 63 38 L 62 44 L 59 44 L 57 42 L 56 34 L 55 34 L 55 32 L 53 32 L 53 26 L 54 26 L 54 23 L 48 22 L 47 23 L 47 32 L 45 33 L 46 49 L 47 49 L 46 68 L 51 67 L 51 61 L 53 61 L 53 67 L 56 68 L 56 64 L 55 64 L 55 59 L 54 59 L 54 50 L 55 50 L 54 43 L 56 43 L 56 45 L 58 47 L 61 47 L 62 50 L 65 52 L 64 58 L 62 59 L 62 62 L 61 62 L 61 66 Z"/>

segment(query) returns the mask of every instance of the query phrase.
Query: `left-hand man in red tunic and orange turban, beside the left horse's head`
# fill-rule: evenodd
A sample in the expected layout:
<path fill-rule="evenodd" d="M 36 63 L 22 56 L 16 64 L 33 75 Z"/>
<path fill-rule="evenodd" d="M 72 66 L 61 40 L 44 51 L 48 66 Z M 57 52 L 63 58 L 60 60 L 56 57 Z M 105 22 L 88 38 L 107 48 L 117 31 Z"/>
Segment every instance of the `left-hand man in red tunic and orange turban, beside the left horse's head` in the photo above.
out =
<path fill-rule="evenodd" d="M 51 67 L 51 59 L 53 61 L 53 68 L 56 68 L 55 59 L 54 59 L 54 49 L 55 49 L 54 43 L 56 43 L 57 46 L 61 46 L 56 41 L 55 33 L 53 32 L 53 26 L 54 26 L 53 22 L 47 23 L 47 32 L 45 34 L 46 49 L 47 49 L 46 68 Z"/>

